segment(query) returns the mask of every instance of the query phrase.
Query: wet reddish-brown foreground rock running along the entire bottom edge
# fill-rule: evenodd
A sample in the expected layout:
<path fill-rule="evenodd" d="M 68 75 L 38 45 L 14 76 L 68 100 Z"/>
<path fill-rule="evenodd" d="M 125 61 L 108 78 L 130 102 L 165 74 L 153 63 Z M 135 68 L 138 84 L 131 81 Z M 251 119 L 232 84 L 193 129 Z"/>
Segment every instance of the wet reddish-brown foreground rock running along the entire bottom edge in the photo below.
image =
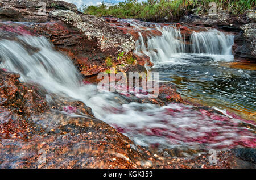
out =
<path fill-rule="evenodd" d="M 208 154 L 197 154 L 195 150 L 184 152 L 166 149 L 159 152 L 154 147 L 142 148 L 118 132 L 120 129 L 114 129 L 94 118 L 92 110 L 84 103 L 56 95 L 49 96 L 43 90 L 31 91 L 26 87 L 33 85 L 20 83 L 18 77 L 18 74 L 6 70 L 1 70 L 0 73 L 1 168 L 254 167 L 253 163 L 246 161 L 247 159 L 244 160 L 230 152 L 218 152 L 217 164 L 210 164 Z M 175 91 L 171 84 L 161 87 L 170 87 Z M 29 96 L 36 95 L 42 105 L 32 99 L 31 104 L 26 106 L 38 108 L 27 111 L 26 106 L 21 104 L 19 106 L 24 113 L 20 113 L 15 106 L 8 106 L 10 103 L 20 103 L 19 93 L 24 94 L 24 103 L 26 99 L 30 100 L 26 93 L 32 93 Z M 10 103 L 6 104 L 7 102 Z M 148 102 L 150 99 L 141 101 Z M 186 158 L 186 154 L 197 155 Z"/>

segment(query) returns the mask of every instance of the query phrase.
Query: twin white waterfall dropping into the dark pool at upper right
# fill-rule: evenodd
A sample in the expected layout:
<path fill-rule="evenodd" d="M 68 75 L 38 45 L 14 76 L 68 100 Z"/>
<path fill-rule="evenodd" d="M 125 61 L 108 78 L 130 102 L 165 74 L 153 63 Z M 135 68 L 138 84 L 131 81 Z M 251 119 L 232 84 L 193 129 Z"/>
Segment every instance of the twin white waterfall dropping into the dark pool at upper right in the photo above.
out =
<path fill-rule="evenodd" d="M 147 37 L 147 40 L 143 39 L 139 32 L 135 49 L 135 53 L 149 56 L 154 64 L 179 62 L 180 58 L 176 57 L 182 53 L 232 55 L 233 35 L 226 35 L 217 30 L 193 32 L 187 43 L 176 28 L 165 26 L 158 30 L 162 32 L 162 36 Z"/>

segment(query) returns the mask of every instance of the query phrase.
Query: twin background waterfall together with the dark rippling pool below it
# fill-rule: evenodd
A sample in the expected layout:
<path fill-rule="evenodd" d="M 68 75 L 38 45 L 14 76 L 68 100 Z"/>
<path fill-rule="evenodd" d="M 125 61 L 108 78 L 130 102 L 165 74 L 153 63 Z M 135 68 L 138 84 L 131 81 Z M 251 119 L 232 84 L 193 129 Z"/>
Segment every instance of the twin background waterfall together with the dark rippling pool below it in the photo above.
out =
<path fill-rule="evenodd" d="M 154 62 L 151 71 L 159 72 L 161 81 L 174 83 L 191 101 L 239 111 L 243 117 L 256 120 L 256 71 L 221 65 L 234 60 L 232 34 L 193 32 L 191 45 L 187 45 L 178 30 L 158 30 L 163 34 L 160 37 L 144 40 L 141 35 L 136 52 L 150 56 Z"/>

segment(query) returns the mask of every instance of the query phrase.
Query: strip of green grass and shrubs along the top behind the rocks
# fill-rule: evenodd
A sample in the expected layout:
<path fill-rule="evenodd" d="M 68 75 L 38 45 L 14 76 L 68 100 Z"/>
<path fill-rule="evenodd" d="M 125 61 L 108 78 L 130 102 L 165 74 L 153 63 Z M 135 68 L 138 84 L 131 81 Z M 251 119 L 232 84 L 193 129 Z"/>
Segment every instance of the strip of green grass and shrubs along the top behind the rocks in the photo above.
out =
<path fill-rule="evenodd" d="M 148 0 L 137 2 L 126 0 L 107 6 L 83 6 L 82 10 L 96 16 L 114 16 L 117 18 L 135 18 L 143 20 L 169 20 L 194 12 L 204 14 L 210 9 L 209 2 L 216 2 L 217 8 L 228 10 L 231 14 L 242 14 L 248 9 L 255 9 L 255 0 Z"/>

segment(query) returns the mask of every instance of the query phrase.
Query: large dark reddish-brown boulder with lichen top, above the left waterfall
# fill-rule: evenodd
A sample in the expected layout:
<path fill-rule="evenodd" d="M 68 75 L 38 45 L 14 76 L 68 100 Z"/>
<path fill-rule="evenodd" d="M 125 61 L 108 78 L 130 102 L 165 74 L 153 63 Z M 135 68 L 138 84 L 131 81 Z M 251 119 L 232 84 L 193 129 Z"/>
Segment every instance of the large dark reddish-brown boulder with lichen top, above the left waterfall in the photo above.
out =
<path fill-rule="evenodd" d="M 30 29 L 34 35 L 48 37 L 56 49 L 67 53 L 85 76 L 108 69 L 105 60 L 112 56 L 114 64 L 120 64 L 118 53 L 131 53 L 135 48 L 131 35 L 110 26 L 102 18 L 77 12 L 75 5 L 63 1 L 47 1 L 46 15 L 38 15 L 38 3 L 42 1 L 2 1 L 0 19 L 26 23 L 7 23 L 1 26 L 9 32 Z M 60 10 L 61 9 L 61 10 Z M 1 12 L 2 15 L 1 15 Z M 33 22 L 33 23 L 31 23 Z M 24 28 L 26 27 L 26 28 Z M 23 31 L 21 31 L 23 32 Z M 31 35 L 29 31 L 22 35 Z"/>

